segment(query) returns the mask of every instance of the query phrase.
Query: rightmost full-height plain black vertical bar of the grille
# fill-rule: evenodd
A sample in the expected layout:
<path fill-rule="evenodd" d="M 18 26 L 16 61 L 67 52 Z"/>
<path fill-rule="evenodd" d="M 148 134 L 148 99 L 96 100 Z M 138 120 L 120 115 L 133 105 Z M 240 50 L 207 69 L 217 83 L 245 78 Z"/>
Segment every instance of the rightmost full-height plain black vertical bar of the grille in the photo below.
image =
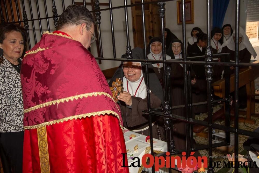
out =
<path fill-rule="evenodd" d="M 239 106 L 239 100 L 238 100 L 238 89 L 239 89 L 239 13 L 240 13 L 240 0 L 236 0 L 236 20 L 235 20 L 235 64 L 237 65 L 235 67 L 235 120 L 234 120 L 234 128 L 235 128 L 235 142 L 234 142 L 234 153 L 235 156 L 238 156 L 238 106 Z M 238 163 L 238 157 L 235 157 L 235 165 L 237 165 Z M 235 173 L 238 173 L 238 168 L 237 166 L 235 166 Z"/>

